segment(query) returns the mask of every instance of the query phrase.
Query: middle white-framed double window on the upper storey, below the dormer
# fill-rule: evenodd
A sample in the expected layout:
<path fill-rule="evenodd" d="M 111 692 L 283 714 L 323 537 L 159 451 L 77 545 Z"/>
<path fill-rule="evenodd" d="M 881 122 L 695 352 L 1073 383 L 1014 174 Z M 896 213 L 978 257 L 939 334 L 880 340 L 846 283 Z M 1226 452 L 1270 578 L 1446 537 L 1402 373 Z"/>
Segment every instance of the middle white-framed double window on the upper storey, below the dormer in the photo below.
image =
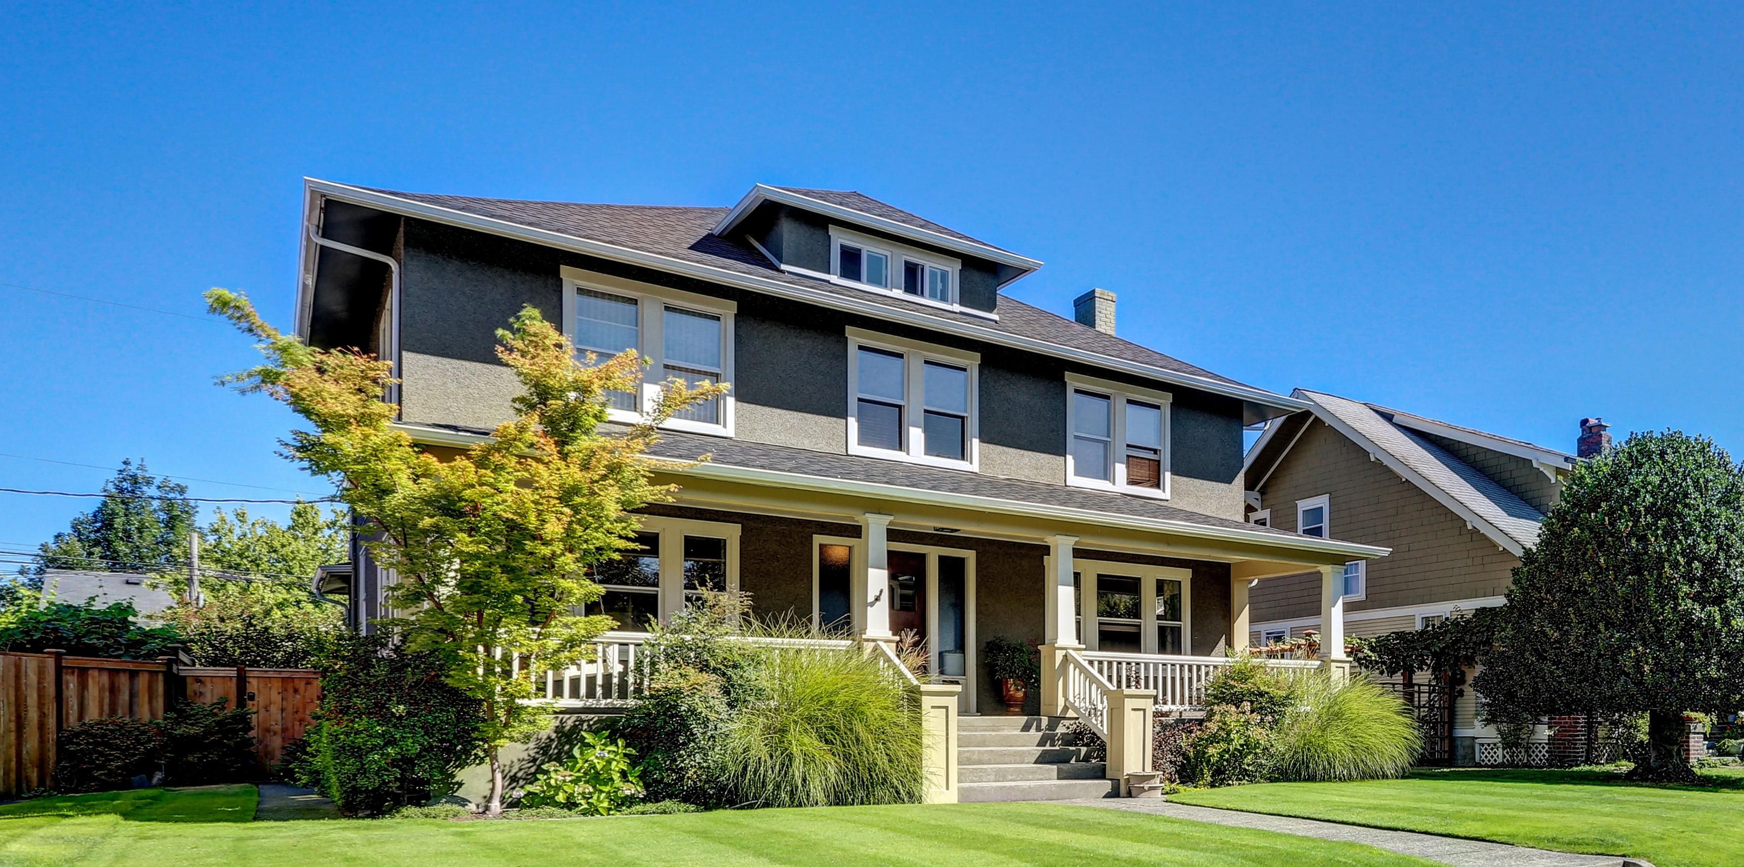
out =
<path fill-rule="evenodd" d="M 848 452 L 977 468 L 977 366 L 959 349 L 848 330 Z"/>

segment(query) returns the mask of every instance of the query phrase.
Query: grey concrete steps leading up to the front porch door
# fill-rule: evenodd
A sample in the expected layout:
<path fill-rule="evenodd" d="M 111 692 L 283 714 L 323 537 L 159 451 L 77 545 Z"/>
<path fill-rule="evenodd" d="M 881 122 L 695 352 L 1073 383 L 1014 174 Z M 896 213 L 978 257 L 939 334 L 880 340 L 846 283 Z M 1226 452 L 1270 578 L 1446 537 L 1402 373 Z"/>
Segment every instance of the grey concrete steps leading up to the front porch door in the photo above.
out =
<path fill-rule="evenodd" d="M 1083 747 L 1060 717 L 961 717 L 957 801 L 1076 801 L 1120 797 L 1120 782 Z"/>

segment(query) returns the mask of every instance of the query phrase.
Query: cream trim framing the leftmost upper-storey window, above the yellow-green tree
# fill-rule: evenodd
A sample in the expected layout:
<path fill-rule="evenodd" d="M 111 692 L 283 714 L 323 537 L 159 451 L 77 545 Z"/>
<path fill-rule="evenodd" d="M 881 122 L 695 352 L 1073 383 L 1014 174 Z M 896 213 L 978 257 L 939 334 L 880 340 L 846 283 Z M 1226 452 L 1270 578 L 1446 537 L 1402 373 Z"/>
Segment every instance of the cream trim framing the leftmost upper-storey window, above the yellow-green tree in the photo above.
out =
<path fill-rule="evenodd" d="M 640 283 L 631 279 L 616 277 L 610 274 L 598 274 L 593 270 L 582 270 L 576 267 L 563 265 L 563 312 L 562 312 L 562 330 L 563 335 L 576 337 L 576 291 L 591 290 L 607 295 L 617 295 L 623 298 L 633 298 L 637 302 L 637 351 L 642 358 L 652 363 L 644 375 L 642 389 L 637 394 L 637 406 L 649 406 L 652 401 L 659 399 L 661 384 L 668 379 L 666 359 L 664 359 L 664 319 L 666 311 L 691 311 L 708 316 L 720 317 L 720 382 L 732 382 L 732 349 L 734 349 L 734 314 L 738 312 L 738 304 L 726 298 L 710 298 L 706 295 L 698 295 L 694 291 L 670 290 L 666 286 L 656 286 L 652 283 Z M 668 419 L 661 427 L 673 431 L 689 431 L 712 436 L 732 436 L 736 401 L 732 393 L 722 394 L 720 401 L 720 420 L 703 422 L 696 419 Z M 642 412 L 610 408 L 607 415 L 616 422 L 640 424 Z"/>

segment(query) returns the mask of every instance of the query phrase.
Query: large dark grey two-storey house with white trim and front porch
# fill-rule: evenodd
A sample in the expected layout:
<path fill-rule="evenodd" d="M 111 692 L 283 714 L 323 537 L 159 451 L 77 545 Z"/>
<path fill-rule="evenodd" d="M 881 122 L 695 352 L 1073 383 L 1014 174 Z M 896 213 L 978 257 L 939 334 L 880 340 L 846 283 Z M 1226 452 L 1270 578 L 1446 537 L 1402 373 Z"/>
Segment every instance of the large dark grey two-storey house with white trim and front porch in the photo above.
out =
<path fill-rule="evenodd" d="M 1062 693 L 1067 666 L 1189 708 L 1247 645 L 1252 581 L 1306 570 L 1332 588 L 1348 560 L 1386 553 L 1243 520 L 1243 427 L 1306 401 L 1121 340 L 1113 293 L 1071 319 L 1018 302 L 1006 290 L 1039 262 L 862 194 L 757 185 L 666 208 L 305 190 L 296 331 L 391 359 L 399 427 L 427 448 L 509 417 L 494 335 L 528 304 L 582 349 L 652 359 L 621 420 L 666 377 L 732 386 L 654 448 L 678 499 L 644 509 L 644 555 L 596 574 L 623 625 L 605 659 L 713 588 L 860 640 L 917 633 L 963 713 L 1001 705 L 977 658 L 992 637 L 1046 647 L 1043 712 L 1100 712 Z M 356 576 L 324 591 L 368 623 L 384 576 L 354 553 Z M 548 694 L 617 686 L 555 672 Z M 966 766 L 998 759 L 977 748 L 994 752 L 966 748 Z M 1024 773 L 982 785 L 1041 780 Z"/>

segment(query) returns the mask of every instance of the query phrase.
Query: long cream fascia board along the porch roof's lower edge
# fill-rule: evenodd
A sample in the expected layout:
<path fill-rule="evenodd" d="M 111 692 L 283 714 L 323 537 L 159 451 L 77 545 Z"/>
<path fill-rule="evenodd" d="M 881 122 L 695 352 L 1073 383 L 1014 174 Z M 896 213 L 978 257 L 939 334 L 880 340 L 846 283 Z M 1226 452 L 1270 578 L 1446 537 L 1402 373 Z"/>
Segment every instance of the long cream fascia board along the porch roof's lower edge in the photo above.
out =
<path fill-rule="evenodd" d="M 467 448 L 476 443 L 490 440 L 485 434 L 446 431 L 441 427 L 424 427 L 417 424 L 394 424 L 394 427 L 405 431 L 406 436 L 410 436 L 413 441 L 426 445 L 446 445 L 446 447 Z M 842 480 L 830 476 L 807 476 L 802 473 L 743 468 L 743 466 L 719 464 L 713 461 L 692 462 L 680 457 L 663 457 L 663 455 L 645 455 L 645 457 L 649 461 L 668 462 L 668 464 L 689 464 L 684 469 L 684 473 L 698 474 L 703 478 L 717 478 L 722 481 L 743 481 L 748 485 L 760 485 L 760 487 L 778 487 L 788 490 L 816 490 L 828 494 L 862 494 L 869 497 L 889 499 L 898 502 L 917 502 L 926 506 L 957 506 L 964 509 L 1015 515 L 1024 518 L 1059 518 L 1059 520 L 1095 523 L 1102 527 L 1120 527 L 1128 530 L 1165 532 L 1193 539 L 1263 544 L 1263 546 L 1280 548 L 1285 551 L 1294 550 L 1308 553 L 1336 553 L 1341 556 L 1355 556 L 1362 560 L 1386 556 L 1393 551 L 1392 548 L 1381 548 L 1376 544 L 1341 543 L 1336 539 L 1315 539 L 1313 536 L 1280 536 L 1277 532 L 1245 530 L 1235 527 L 1207 527 L 1189 522 L 1137 518 L 1128 515 L 1074 509 L 1066 506 L 1043 506 L 1039 502 L 980 497 L 975 494 L 945 494 L 938 490 L 886 485 L 879 481 L 855 481 L 855 480 Z"/>

